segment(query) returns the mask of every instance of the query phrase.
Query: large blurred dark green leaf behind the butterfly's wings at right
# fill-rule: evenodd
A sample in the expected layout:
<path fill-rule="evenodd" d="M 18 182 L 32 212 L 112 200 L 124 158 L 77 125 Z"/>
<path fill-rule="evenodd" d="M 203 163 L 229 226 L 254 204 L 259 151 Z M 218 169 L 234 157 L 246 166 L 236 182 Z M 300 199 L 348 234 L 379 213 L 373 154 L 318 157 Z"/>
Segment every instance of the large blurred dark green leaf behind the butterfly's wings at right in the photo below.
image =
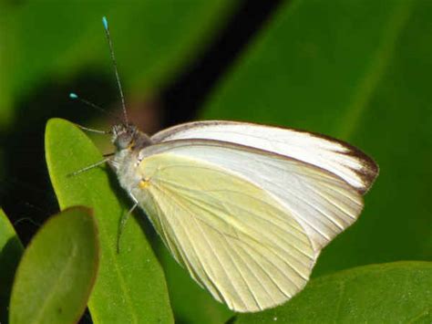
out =
<path fill-rule="evenodd" d="M 322 132 L 379 164 L 363 214 L 314 275 L 432 256 L 431 19 L 430 1 L 286 1 L 202 110 Z"/>

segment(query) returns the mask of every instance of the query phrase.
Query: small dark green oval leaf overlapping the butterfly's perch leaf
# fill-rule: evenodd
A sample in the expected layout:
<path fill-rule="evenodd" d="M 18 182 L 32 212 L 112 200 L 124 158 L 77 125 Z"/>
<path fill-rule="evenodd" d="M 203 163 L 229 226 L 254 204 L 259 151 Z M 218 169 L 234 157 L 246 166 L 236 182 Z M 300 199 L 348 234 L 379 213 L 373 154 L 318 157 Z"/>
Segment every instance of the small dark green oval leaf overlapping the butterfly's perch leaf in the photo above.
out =
<path fill-rule="evenodd" d="M 98 261 L 98 226 L 90 210 L 69 208 L 48 219 L 16 270 L 10 323 L 76 323 L 86 309 Z"/>

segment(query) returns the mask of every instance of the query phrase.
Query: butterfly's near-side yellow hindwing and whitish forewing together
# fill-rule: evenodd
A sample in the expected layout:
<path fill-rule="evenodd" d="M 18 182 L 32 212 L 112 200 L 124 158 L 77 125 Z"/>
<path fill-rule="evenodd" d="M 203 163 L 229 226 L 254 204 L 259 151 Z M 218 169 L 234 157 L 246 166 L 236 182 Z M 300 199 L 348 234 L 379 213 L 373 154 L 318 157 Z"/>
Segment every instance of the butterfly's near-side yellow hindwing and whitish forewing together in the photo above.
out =
<path fill-rule="evenodd" d="M 139 161 L 130 192 L 190 276 L 236 311 L 293 297 L 363 206 L 331 172 L 237 144 L 162 142 Z"/>

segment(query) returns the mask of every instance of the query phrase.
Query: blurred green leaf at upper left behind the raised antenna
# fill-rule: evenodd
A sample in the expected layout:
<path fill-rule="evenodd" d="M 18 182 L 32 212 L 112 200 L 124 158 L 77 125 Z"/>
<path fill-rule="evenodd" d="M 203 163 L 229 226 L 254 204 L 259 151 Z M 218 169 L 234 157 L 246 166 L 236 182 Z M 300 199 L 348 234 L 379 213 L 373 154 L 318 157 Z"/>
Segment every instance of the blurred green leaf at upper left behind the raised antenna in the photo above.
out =
<path fill-rule="evenodd" d="M 46 79 L 111 71 L 108 16 L 127 93 L 147 93 L 190 61 L 231 13 L 227 0 L 26 1 L 0 4 L 0 124 Z M 35 27 L 37 26 L 37 27 Z M 104 55 L 105 54 L 105 55 Z M 114 82 L 114 80 L 113 80 Z"/>

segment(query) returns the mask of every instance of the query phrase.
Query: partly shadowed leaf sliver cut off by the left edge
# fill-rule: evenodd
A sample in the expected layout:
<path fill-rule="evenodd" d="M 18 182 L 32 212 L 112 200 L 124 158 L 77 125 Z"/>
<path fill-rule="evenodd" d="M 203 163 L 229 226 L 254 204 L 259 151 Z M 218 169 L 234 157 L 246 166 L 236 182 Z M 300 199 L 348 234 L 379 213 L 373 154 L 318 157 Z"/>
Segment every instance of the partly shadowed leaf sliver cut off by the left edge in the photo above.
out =
<path fill-rule="evenodd" d="M 7 305 L 15 270 L 23 255 L 23 245 L 5 213 L 0 208 L 0 323 L 7 322 Z"/>

